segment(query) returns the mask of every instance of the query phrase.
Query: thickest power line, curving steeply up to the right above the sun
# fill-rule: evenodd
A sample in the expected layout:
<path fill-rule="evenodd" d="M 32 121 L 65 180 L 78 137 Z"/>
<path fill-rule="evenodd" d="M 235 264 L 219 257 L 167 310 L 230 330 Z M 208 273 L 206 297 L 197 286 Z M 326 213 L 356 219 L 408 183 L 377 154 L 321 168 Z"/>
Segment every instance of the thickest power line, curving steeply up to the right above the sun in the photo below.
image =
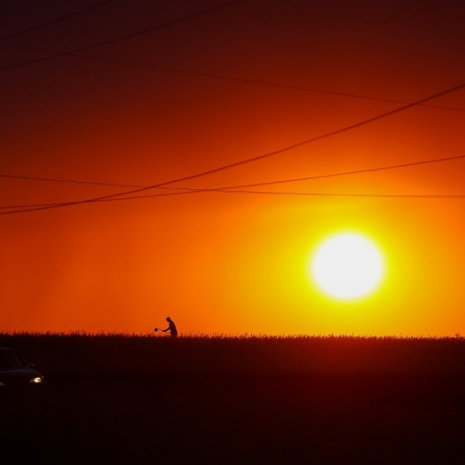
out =
<path fill-rule="evenodd" d="M 344 128 L 341 128 L 339 130 L 332 130 L 330 132 L 327 132 L 326 134 L 322 134 L 322 135 L 316 136 L 314 138 L 303 140 L 302 142 L 299 142 L 299 143 L 294 144 L 292 146 L 286 146 L 286 147 L 280 148 L 279 150 L 276 150 L 276 151 L 268 153 L 268 154 L 258 155 L 256 157 L 248 158 L 248 159 L 242 160 L 240 162 L 229 163 L 227 165 L 223 165 L 223 166 L 215 168 L 215 169 L 209 169 L 207 171 L 202 171 L 201 173 L 197 173 L 197 174 L 194 174 L 194 175 L 185 176 L 185 177 L 178 177 L 178 178 L 175 178 L 175 179 L 171 179 L 170 181 L 165 181 L 165 182 L 162 182 L 162 183 L 159 183 L 159 184 L 156 184 L 156 185 L 148 185 L 148 186 L 141 187 L 141 188 L 138 188 L 138 189 L 133 189 L 133 190 L 130 190 L 130 191 L 126 191 L 124 193 L 113 193 L 113 194 L 109 194 L 109 195 L 93 197 L 91 199 L 86 199 L 86 200 L 83 200 L 83 201 L 63 202 L 63 203 L 60 203 L 60 204 L 53 204 L 53 205 L 41 207 L 41 208 L 38 208 L 38 209 L 15 210 L 15 213 L 23 213 L 23 212 L 27 212 L 27 211 L 38 211 L 38 210 L 43 210 L 43 209 L 56 209 L 56 208 L 61 208 L 61 207 L 69 207 L 71 205 L 82 205 L 84 203 L 92 203 L 92 202 L 95 202 L 95 201 L 101 201 L 101 200 L 111 199 L 111 198 L 114 198 L 114 197 L 120 197 L 122 195 L 130 195 L 132 193 L 145 192 L 145 191 L 148 191 L 148 190 L 151 190 L 151 189 L 156 189 L 156 188 L 163 187 L 163 186 L 166 186 L 166 185 L 175 184 L 175 183 L 179 183 L 179 182 L 183 182 L 183 181 L 188 181 L 188 180 L 195 179 L 195 178 L 198 178 L 198 177 L 209 176 L 211 174 L 215 174 L 215 173 L 218 173 L 220 171 L 225 171 L 227 169 L 232 169 L 232 168 L 242 166 L 242 165 L 245 165 L 245 164 L 248 164 L 248 163 L 251 163 L 251 162 L 257 162 L 259 160 L 264 160 L 265 158 L 270 158 L 270 157 L 278 155 L 278 154 L 283 154 L 283 153 L 288 152 L 290 150 L 293 150 L 295 148 L 311 144 L 312 142 L 316 142 L 316 141 L 319 141 L 319 140 L 322 140 L 322 139 L 325 139 L 325 138 L 330 138 L 330 137 L 333 137 L 333 136 L 338 135 L 338 134 L 343 134 L 344 132 L 347 132 L 349 130 L 354 130 L 354 129 L 359 128 L 361 126 L 364 126 L 364 125 L 366 125 L 366 124 L 368 124 L 370 122 L 379 121 L 382 118 L 385 118 L 385 117 L 390 116 L 392 114 L 398 114 L 399 112 L 405 111 L 408 108 L 411 108 L 413 106 L 421 105 L 424 102 L 430 101 L 432 99 L 437 99 L 438 97 L 442 97 L 442 96 L 444 96 L 444 95 L 446 95 L 448 93 L 451 93 L 453 91 L 458 91 L 460 89 L 463 89 L 464 87 L 465 87 L 465 83 L 461 83 L 461 84 L 456 85 L 454 87 L 451 87 L 450 89 L 447 89 L 445 91 L 441 91 L 441 92 L 438 92 L 436 94 L 430 95 L 430 97 L 426 97 L 424 99 L 417 100 L 417 101 L 415 101 L 413 103 L 410 103 L 408 105 L 405 105 L 405 106 L 400 106 L 399 108 L 396 108 L 394 110 L 390 110 L 389 112 L 378 114 L 378 115 L 373 116 L 371 118 L 368 118 L 367 120 L 364 120 L 362 122 L 357 122 L 357 123 L 351 124 L 349 126 L 345 126 Z M 2 214 L 6 214 L 6 213 L 13 213 L 13 212 L 4 212 Z"/>

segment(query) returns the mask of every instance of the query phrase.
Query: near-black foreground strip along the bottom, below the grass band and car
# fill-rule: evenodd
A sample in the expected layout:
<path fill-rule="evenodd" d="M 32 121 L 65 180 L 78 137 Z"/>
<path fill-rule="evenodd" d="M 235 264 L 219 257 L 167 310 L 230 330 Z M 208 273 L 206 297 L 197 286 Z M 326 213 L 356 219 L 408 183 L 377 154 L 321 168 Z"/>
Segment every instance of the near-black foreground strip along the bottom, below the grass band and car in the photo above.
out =
<path fill-rule="evenodd" d="M 462 464 L 462 375 L 55 374 L 0 395 L 0 463 Z"/>

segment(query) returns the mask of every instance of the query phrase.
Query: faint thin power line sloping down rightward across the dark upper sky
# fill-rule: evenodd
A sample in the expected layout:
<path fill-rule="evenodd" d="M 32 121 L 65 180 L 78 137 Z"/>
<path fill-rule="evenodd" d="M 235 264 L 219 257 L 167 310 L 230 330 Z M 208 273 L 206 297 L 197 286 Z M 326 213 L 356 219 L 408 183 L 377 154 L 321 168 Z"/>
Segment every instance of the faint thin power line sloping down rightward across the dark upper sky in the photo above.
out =
<path fill-rule="evenodd" d="M 54 51 L 51 50 L 46 50 L 46 49 L 38 49 L 36 47 L 25 47 L 23 45 L 13 45 L 12 43 L 4 43 L 3 45 L 6 45 L 7 47 L 13 47 L 13 48 L 19 48 L 23 50 L 34 50 L 34 51 L 44 51 L 47 53 L 55 53 Z M 349 97 L 351 99 L 365 99 L 365 100 L 373 100 L 377 102 L 387 102 L 387 103 L 396 103 L 396 104 L 408 104 L 410 102 L 406 102 L 406 100 L 395 100 L 395 99 L 381 99 L 377 97 L 370 97 L 366 95 L 360 95 L 360 94 L 353 94 L 350 92 L 337 92 L 337 91 L 326 91 L 322 89 L 313 89 L 310 87 L 303 87 L 303 86 L 297 86 L 297 85 L 289 85 L 289 84 L 280 84 L 280 83 L 270 83 L 268 81 L 259 81 L 256 79 L 247 79 L 247 78 L 242 78 L 242 77 L 233 77 L 233 76 L 227 76 L 227 75 L 214 75 L 211 73 L 203 73 L 200 71 L 189 71 L 185 69 L 177 69 L 177 68 L 172 68 L 172 67 L 157 67 L 154 65 L 145 65 L 141 63 L 133 63 L 130 61 L 123 61 L 121 59 L 106 59 L 106 58 L 100 58 L 100 57 L 89 57 L 85 55 L 79 55 L 74 52 L 70 52 L 69 55 L 73 57 L 77 57 L 80 59 L 93 59 L 95 61 L 104 61 L 108 63 L 117 63 L 119 65 L 129 65 L 131 67 L 144 67 L 148 69 L 156 69 L 158 71 L 168 71 L 169 73 L 177 73 L 181 75 L 195 75 L 195 76 L 201 76 L 201 77 L 208 77 L 211 79 L 220 79 L 224 81 L 233 81 L 235 83 L 248 83 L 248 84 L 257 84 L 257 85 L 265 85 L 265 86 L 270 86 L 270 87 L 278 87 L 280 89 L 291 89 L 294 91 L 307 91 L 307 92 L 315 92 L 315 93 L 323 93 L 327 95 L 337 95 L 341 97 Z M 1 68 L 0 68 L 1 69 Z M 437 108 L 441 110 L 448 110 L 448 111 L 456 111 L 456 112 L 465 112 L 464 108 L 453 108 L 452 106 L 439 106 L 439 105 L 422 105 L 426 106 L 428 108 Z"/>

